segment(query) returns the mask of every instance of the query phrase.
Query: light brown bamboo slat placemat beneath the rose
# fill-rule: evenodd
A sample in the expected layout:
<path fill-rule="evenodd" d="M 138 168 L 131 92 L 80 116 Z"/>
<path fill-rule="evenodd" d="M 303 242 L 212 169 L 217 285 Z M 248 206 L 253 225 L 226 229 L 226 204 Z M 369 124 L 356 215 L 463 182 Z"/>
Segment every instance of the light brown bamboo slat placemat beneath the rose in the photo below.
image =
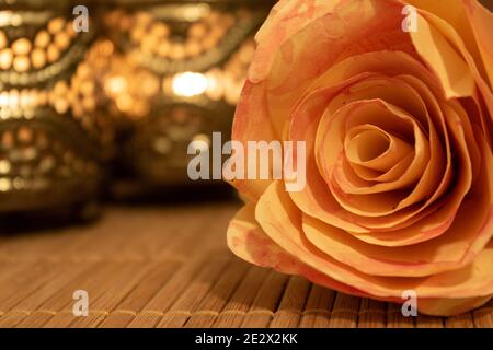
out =
<path fill-rule="evenodd" d="M 492 327 L 493 303 L 450 318 L 250 266 L 226 246 L 236 203 L 112 207 L 87 226 L 0 234 L 0 327 Z M 36 226 L 36 223 L 31 224 Z M 89 316 L 72 293 L 89 293 Z"/>

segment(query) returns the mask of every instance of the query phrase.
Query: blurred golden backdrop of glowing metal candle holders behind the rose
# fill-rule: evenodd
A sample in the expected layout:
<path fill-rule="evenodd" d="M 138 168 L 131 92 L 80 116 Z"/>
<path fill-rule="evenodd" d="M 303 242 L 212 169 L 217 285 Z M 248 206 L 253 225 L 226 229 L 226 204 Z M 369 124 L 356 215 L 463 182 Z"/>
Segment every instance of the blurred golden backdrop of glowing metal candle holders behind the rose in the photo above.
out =
<path fill-rule="evenodd" d="M 272 4 L 0 1 L 0 213 L 196 192 L 187 147 L 229 138 Z"/>

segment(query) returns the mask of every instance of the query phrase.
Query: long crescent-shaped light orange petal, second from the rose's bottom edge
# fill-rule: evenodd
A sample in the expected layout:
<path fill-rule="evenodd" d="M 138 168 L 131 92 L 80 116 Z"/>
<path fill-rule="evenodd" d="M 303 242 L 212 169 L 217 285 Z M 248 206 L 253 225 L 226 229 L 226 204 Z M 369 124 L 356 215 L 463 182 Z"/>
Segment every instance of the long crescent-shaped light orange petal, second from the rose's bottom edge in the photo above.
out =
<path fill-rule="evenodd" d="M 471 298 L 493 294 L 491 261 L 493 243 L 461 269 L 423 278 L 376 277 L 336 261 L 314 247 L 301 229 L 301 213 L 284 191 L 280 182 L 272 184 L 255 208 L 255 219 L 264 232 L 288 254 L 328 277 L 354 287 L 375 298 L 400 298 L 404 290 L 414 290 L 421 298 Z M 484 232 L 493 229 L 493 217 L 483 224 Z M 409 269 L 414 266 L 410 265 Z"/>

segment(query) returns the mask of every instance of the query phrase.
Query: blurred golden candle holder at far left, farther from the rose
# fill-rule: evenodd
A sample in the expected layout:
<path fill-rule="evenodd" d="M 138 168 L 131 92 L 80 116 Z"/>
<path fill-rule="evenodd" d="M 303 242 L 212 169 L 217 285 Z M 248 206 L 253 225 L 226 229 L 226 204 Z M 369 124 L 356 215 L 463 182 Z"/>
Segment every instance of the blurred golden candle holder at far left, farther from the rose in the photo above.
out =
<path fill-rule="evenodd" d="M 112 156 L 90 45 L 69 2 L 0 1 L 0 212 L 87 202 Z"/>

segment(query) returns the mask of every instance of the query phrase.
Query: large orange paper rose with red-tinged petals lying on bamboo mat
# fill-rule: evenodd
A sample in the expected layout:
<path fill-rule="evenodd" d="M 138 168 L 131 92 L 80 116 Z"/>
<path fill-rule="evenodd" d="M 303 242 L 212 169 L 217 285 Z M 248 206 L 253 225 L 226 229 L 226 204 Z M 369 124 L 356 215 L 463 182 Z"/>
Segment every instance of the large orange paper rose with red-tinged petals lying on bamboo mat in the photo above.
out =
<path fill-rule="evenodd" d="M 492 33 L 473 0 L 280 0 L 256 35 L 232 139 L 306 141 L 306 186 L 231 180 L 246 203 L 229 247 L 354 295 L 413 290 L 425 314 L 486 303 Z"/>

